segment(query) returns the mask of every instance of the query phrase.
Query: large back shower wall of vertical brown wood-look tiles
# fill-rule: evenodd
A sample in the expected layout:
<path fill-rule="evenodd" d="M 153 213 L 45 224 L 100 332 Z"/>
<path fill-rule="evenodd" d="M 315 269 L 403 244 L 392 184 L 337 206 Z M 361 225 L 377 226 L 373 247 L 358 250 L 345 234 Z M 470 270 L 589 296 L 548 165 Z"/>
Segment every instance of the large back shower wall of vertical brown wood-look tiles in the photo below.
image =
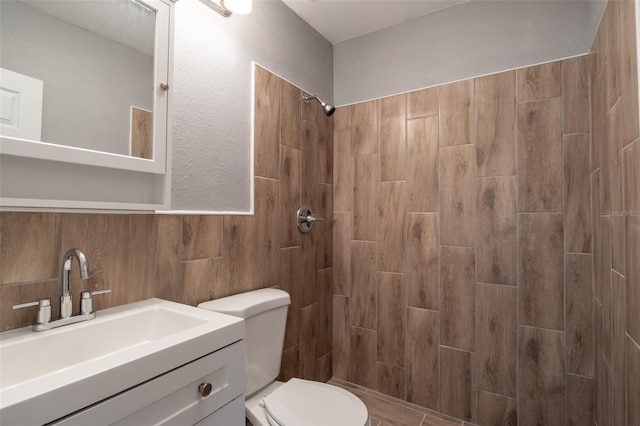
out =
<path fill-rule="evenodd" d="M 337 110 L 335 377 L 481 425 L 592 423 L 588 63 Z"/>

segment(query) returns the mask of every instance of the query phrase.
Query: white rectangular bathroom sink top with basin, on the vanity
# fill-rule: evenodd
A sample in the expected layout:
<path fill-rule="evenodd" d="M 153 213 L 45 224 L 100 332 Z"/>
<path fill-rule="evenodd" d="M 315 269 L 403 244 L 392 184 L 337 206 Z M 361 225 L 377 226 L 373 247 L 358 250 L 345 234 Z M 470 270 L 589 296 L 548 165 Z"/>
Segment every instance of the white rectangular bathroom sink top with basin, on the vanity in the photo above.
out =
<path fill-rule="evenodd" d="M 242 320 L 160 299 L 0 334 L 0 419 L 46 423 L 242 339 Z M 215 346 L 215 347 L 214 347 Z"/>

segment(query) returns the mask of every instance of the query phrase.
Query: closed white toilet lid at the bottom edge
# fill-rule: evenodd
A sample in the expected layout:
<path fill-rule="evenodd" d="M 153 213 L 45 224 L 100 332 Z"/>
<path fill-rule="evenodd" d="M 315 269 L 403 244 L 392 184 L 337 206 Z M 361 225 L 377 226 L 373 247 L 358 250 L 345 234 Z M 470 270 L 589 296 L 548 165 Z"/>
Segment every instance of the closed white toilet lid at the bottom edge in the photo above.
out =
<path fill-rule="evenodd" d="M 364 426 L 369 413 L 354 394 L 337 386 L 291 379 L 267 395 L 267 418 L 280 426 Z"/>

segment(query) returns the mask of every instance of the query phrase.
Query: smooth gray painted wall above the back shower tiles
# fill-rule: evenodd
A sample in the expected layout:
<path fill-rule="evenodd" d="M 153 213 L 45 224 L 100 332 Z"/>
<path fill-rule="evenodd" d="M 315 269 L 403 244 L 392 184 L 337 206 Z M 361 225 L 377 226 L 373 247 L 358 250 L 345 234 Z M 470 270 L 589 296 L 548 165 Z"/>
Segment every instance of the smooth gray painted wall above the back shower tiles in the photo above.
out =
<path fill-rule="evenodd" d="M 474 0 L 334 46 L 347 105 L 587 53 L 605 2 Z"/>

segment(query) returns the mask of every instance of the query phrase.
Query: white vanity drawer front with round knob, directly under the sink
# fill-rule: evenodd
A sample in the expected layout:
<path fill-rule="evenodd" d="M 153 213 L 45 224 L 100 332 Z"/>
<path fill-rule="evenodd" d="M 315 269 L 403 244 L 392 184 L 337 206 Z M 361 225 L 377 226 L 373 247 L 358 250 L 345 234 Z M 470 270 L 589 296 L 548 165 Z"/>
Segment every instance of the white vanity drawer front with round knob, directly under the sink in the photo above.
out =
<path fill-rule="evenodd" d="M 201 383 L 212 385 L 208 397 Z M 112 398 L 56 425 L 193 425 L 244 391 L 244 342 L 240 341 Z"/>

